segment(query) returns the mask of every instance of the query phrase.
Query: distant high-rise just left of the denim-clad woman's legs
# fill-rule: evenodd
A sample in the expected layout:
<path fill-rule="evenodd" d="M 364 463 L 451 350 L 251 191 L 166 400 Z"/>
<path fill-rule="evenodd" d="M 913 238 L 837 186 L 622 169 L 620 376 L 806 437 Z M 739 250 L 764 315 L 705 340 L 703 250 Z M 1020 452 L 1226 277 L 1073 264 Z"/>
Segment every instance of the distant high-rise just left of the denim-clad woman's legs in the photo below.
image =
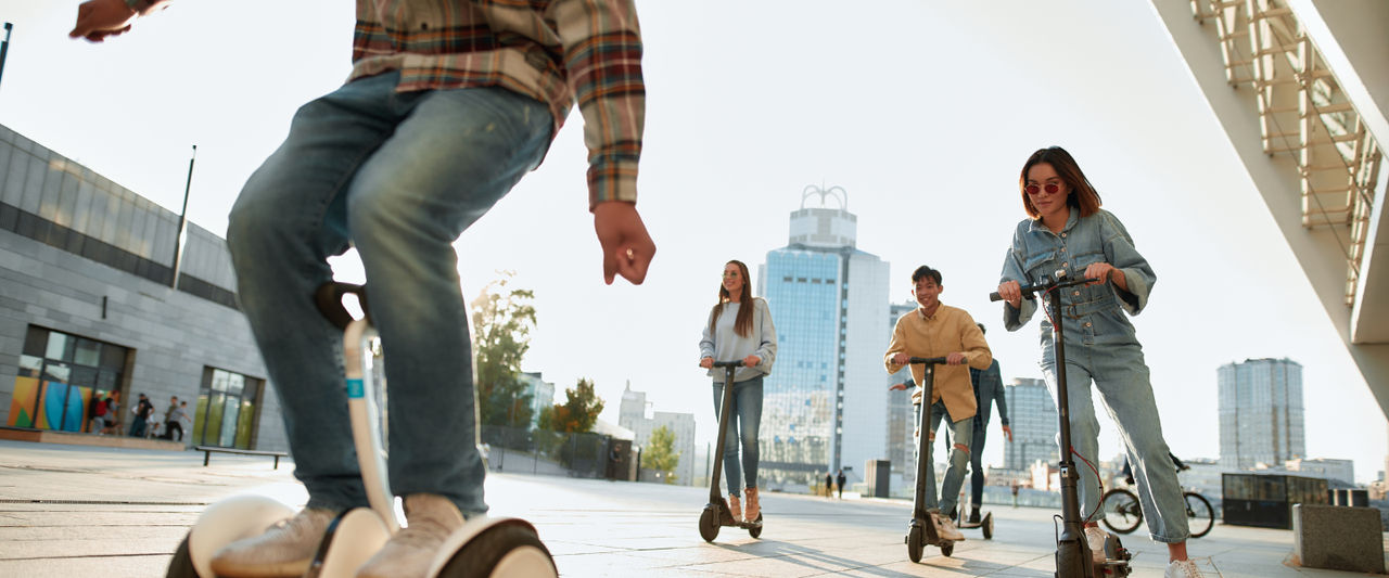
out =
<path fill-rule="evenodd" d="M 1013 428 L 1013 443 L 1003 445 L 1003 467 L 1026 471 L 1038 460 L 1047 464 L 1060 461 L 1056 439 L 1060 422 L 1046 382 L 1014 378 L 1003 392 L 1008 399 L 1008 421 Z"/>

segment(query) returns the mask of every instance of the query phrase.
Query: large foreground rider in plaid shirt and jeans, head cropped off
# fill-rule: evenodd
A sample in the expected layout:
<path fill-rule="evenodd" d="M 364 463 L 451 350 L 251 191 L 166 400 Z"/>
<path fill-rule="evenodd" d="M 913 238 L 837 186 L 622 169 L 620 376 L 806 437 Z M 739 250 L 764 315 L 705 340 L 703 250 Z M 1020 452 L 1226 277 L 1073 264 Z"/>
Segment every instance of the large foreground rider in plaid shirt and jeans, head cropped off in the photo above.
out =
<path fill-rule="evenodd" d="M 69 35 L 100 42 L 165 4 L 88 0 Z M 303 574 L 333 517 L 367 506 L 342 332 L 311 299 L 332 281 L 329 257 L 356 247 L 392 352 L 389 474 L 408 521 L 357 575 L 419 577 L 464 518 L 488 510 L 453 243 L 540 164 L 575 100 L 604 281 L 640 283 L 656 253 L 635 206 L 646 97 L 632 0 L 356 6 L 349 81 L 299 110 L 228 221 L 238 302 L 276 385 L 308 503 L 215 553 L 217 574 Z M 256 42 L 294 58 L 283 40 Z M 564 251 L 575 240 L 557 243 Z"/>

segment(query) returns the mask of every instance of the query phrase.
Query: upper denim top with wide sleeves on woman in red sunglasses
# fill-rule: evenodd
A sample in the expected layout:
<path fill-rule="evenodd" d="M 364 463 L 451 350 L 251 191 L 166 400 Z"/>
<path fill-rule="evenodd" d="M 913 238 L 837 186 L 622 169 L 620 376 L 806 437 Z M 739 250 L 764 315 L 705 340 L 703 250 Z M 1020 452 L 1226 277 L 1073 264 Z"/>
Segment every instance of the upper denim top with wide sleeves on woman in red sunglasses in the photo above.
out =
<path fill-rule="evenodd" d="M 1000 283 L 1017 281 L 1032 285 L 1049 279 L 1056 271 L 1065 271 L 1068 279 L 1076 279 L 1085 274 L 1089 264 L 1108 263 L 1124 271 L 1128 290 L 1120 289 L 1113 282 L 1060 289 L 1065 345 L 1138 345 L 1133 325 L 1121 308 L 1129 315 L 1139 314 L 1147 304 L 1147 295 L 1157 276 L 1147 260 L 1133 249 L 1133 239 L 1117 217 L 1103 208 L 1085 218 L 1079 218 L 1079 210 L 1071 208 L 1071 218 L 1060 235 L 1047 229 L 1040 220 L 1029 218 L 1020 222 L 1013 233 L 1013 247 L 1003 260 Z M 1036 313 L 1038 300 L 1045 300 L 1042 295 L 1036 297 L 1036 300 L 1024 299 L 1021 308 L 1003 304 L 1003 324 L 1008 331 L 1026 325 Z M 1053 318 L 1057 314 L 1057 311 L 1050 313 Z M 1039 339 L 1046 354 L 1043 364 L 1050 364 L 1053 360 L 1049 320 L 1042 320 Z"/>

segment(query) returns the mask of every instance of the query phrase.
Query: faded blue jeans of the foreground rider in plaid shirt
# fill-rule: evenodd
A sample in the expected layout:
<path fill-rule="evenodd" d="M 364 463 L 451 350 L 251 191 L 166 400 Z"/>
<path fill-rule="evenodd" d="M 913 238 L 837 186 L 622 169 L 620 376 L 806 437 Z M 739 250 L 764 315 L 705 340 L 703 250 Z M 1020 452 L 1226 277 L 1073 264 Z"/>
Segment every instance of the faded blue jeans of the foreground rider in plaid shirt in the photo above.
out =
<path fill-rule="evenodd" d="M 303 106 L 232 207 L 238 297 L 275 385 L 310 507 L 365 506 L 342 332 L 318 313 L 326 258 L 356 246 L 389 358 L 390 486 L 486 511 L 468 310 L 453 242 L 550 142 L 551 117 L 500 88 L 394 92 L 399 74 Z"/>

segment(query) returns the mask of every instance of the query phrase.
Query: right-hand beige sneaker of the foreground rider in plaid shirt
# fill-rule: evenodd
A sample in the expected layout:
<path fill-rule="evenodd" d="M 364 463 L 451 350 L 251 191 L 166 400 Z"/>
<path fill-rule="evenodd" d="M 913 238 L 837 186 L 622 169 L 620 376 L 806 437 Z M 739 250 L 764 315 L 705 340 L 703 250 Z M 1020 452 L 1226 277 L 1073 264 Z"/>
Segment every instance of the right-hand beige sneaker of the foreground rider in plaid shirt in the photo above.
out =
<path fill-rule="evenodd" d="M 424 578 L 439 546 L 463 527 L 463 513 L 447 497 L 433 493 L 406 496 L 406 521 L 386 546 L 357 570 L 357 578 Z"/>

